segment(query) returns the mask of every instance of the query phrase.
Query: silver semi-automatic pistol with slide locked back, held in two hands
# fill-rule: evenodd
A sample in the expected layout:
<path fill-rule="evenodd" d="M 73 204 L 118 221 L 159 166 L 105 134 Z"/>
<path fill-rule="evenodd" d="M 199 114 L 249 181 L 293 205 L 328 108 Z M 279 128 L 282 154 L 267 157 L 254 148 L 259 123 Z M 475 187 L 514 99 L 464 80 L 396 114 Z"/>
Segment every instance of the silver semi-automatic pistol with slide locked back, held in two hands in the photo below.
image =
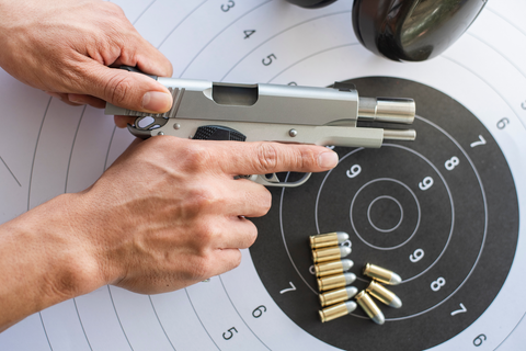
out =
<path fill-rule="evenodd" d="M 133 67 L 123 67 L 137 71 Z M 375 123 L 411 124 L 412 99 L 361 98 L 355 87 L 235 84 L 150 76 L 173 97 L 170 111 L 151 114 L 107 103 L 105 114 L 136 116 L 128 125 L 139 138 L 173 135 L 193 139 L 304 143 L 378 148 L 386 139 L 414 140 L 414 129 L 374 127 Z M 370 122 L 358 126 L 358 121 Z M 283 182 L 276 174 L 245 176 L 272 186 L 297 186 L 309 178 Z"/>

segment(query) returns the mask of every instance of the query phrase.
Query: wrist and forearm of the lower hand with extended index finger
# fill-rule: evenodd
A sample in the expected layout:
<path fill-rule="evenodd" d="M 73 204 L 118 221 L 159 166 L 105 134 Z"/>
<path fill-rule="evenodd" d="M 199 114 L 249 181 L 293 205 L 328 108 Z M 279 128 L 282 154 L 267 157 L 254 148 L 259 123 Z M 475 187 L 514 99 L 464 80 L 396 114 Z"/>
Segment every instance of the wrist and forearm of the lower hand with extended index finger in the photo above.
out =
<path fill-rule="evenodd" d="M 60 195 L 0 226 L 0 331 L 104 284 L 76 230 L 80 196 Z"/>

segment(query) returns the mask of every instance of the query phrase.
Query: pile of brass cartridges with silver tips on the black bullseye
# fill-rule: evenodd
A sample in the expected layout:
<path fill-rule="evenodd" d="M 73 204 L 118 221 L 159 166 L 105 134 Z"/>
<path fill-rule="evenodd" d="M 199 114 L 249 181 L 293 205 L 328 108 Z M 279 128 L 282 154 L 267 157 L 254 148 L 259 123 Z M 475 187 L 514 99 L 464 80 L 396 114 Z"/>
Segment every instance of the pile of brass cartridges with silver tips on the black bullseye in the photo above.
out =
<path fill-rule="evenodd" d="M 381 267 L 370 263 L 365 265 L 364 275 L 373 279 L 366 290 L 358 293 L 355 286 L 350 286 L 356 280 L 354 273 L 347 272 L 354 262 L 343 259 L 351 253 L 351 247 L 341 245 L 344 241 L 351 242 L 348 234 L 334 231 L 311 236 L 309 239 L 320 292 L 320 304 L 321 307 L 324 307 L 320 310 L 322 322 L 355 310 L 356 303 L 351 301 L 353 297 L 367 316 L 379 325 L 384 324 L 385 317 L 370 296 L 390 307 L 400 308 L 402 306 L 400 298 L 380 284 L 399 284 L 402 281 L 400 275 Z"/>

